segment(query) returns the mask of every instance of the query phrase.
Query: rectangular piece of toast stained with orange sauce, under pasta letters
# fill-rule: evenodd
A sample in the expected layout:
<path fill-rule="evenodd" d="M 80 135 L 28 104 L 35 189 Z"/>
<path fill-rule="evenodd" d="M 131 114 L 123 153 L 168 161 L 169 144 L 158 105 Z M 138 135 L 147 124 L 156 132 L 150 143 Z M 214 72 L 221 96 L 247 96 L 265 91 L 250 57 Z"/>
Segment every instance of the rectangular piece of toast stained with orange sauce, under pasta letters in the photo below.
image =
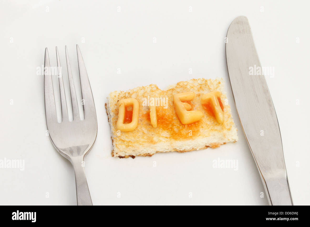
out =
<path fill-rule="evenodd" d="M 212 91 L 222 92 L 219 99 L 224 113 L 222 124 L 217 122 L 210 108 L 201 105 L 201 96 Z M 191 110 L 203 112 L 202 118 L 195 123 L 182 124 L 175 112 L 173 95 L 183 92 L 194 92 L 195 98 L 188 102 L 192 106 Z M 139 103 L 138 126 L 129 132 L 117 130 L 118 101 L 125 98 L 135 98 Z M 150 121 L 149 106 L 154 104 L 154 99 L 157 99 L 157 128 L 154 128 Z M 222 79 L 181 81 L 167 90 L 151 84 L 126 92 L 113 91 L 109 94 L 105 107 L 111 126 L 112 156 L 120 158 L 152 156 L 157 152 L 216 148 L 238 140 Z"/>

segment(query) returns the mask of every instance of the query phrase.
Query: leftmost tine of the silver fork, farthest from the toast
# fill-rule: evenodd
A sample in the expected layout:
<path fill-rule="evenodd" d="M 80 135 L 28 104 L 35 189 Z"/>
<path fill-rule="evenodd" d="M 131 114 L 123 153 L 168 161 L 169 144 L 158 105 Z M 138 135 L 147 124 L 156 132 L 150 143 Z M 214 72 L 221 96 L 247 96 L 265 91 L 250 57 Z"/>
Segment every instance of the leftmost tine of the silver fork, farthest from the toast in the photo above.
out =
<path fill-rule="evenodd" d="M 48 50 L 45 48 L 44 57 L 44 102 L 45 102 L 45 116 L 47 125 L 57 122 L 54 89 L 51 76 L 50 59 L 48 57 Z"/>

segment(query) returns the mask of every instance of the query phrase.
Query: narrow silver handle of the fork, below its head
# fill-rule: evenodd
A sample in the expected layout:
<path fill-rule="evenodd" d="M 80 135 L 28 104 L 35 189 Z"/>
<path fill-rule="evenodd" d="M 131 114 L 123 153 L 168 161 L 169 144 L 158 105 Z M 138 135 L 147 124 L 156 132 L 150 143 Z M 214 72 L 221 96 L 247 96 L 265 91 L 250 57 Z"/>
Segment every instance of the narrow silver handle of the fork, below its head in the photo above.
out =
<path fill-rule="evenodd" d="M 73 168 L 75 172 L 75 184 L 77 189 L 78 206 L 92 206 L 91 194 L 89 193 L 85 170 L 83 165 L 83 157 L 72 158 Z"/>

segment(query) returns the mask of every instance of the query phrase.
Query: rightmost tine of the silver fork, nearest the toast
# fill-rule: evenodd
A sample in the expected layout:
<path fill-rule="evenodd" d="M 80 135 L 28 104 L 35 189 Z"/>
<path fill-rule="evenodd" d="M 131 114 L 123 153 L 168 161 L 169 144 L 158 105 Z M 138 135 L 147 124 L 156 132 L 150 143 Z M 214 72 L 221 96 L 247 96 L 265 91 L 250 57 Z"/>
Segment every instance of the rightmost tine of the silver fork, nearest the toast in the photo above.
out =
<path fill-rule="evenodd" d="M 82 58 L 81 50 L 77 44 L 77 54 L 78 54 L 78 69 L 81 81 L 82 99 L 84 107 L 84 116 L 86 117 L 96 117 L 95 103 L 93 94 L 91 92 L 91 85 L 89 83 L 88 75 L 86 72 L 86 67 Z"/>

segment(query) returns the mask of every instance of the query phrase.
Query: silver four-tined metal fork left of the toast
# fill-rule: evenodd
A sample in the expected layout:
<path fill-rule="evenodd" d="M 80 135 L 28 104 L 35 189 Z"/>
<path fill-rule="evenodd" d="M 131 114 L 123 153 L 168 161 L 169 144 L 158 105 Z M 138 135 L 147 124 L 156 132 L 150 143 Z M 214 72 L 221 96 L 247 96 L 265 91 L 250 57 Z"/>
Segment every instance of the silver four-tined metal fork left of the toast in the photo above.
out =
<path fill-rule="evenodd" d="M 47 130 L 56 150 L 73 165 L 78 205 L 92 205 L 85 170 L 84 157 L 90 151 L 97 136 L 97 116 L 91 85 L 88 80 L 85 64 L 79 46 L 77 45 L 78 68 L 82 90 L 82 107 L 85 119 L 81 120 L 78 101 L 75 93 L 67 46 L 66 61 L 72 101 L 73 121 L 69 121 L 64 81 L 60 67 L 58 48 L 56 46 L 57 73 L 59 78 L 62 122 L 57 121 L 54 89 L 51 76 L 48 50 L 45 48 L 44 59 L 44 99 Z M 48 70 L 45 70 L 48 69 Z"/>

